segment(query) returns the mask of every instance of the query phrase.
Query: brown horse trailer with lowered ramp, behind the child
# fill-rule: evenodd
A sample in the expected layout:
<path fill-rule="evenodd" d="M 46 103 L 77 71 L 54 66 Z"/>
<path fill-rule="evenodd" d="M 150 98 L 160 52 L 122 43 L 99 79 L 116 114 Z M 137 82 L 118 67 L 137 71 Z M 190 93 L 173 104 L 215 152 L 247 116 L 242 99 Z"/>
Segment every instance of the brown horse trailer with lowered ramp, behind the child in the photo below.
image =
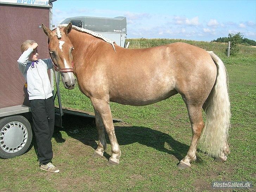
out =
<path fill-rule="evenodd" d="M 48 38 L 41 24 L 44 23 L 50 29 L 54 27 L 52 25 L 54 1 L 56 0 L 0 0 L 0 158 L 8 159 L 22 155 L 31 144 L 33 124 L 30 102 L 26 81 L 19 71 L 17 59 L 21 55 L 20 46 L 27 39 L 33 39 L 39 44 L 40 58 L 49 58 Z M 37 15 L 36 20 L 35 15 Z M 48 75 L 53 95 L 58 96 L 55 126 L 62 127 L 63 114 L 95 118 L 94 114 L 87 111 L 62 108 L 59 73 L 49 70 Z M 54 86 L 54 76 L 56 86 Z"/>

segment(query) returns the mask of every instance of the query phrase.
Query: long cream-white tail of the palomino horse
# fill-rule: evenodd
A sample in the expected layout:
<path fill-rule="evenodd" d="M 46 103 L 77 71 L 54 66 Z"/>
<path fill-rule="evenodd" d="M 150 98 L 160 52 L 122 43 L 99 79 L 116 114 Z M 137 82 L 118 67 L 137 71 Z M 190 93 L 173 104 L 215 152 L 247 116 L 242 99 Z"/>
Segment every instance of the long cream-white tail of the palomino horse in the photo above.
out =
<path fill-rule="evenodd" d="M 212 51 L 208 51 L 217 66 L 217 79 L 207 99 L 206 121 L 200 142 L 208 155 L 219 157 L 225 148 L 230 127 L 230 101 L 228 93 L 228 73 Z"/>

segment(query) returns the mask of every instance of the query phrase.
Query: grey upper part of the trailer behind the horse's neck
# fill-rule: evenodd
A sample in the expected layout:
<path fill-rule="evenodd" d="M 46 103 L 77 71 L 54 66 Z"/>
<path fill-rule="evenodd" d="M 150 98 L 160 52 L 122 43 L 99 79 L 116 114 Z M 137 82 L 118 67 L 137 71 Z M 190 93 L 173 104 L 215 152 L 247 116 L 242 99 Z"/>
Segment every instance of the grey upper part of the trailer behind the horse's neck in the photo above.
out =
<path fill-rule="evenodd" d="M 66 18 L 60 24 L 68 24 L 71 22 L 73 25 L 76 22 L 82 21 L 82 27 L 95 32 L 111 32 L 111 33 L 126 33 L 126 17 L 89 17 L 78 16 Z"/>

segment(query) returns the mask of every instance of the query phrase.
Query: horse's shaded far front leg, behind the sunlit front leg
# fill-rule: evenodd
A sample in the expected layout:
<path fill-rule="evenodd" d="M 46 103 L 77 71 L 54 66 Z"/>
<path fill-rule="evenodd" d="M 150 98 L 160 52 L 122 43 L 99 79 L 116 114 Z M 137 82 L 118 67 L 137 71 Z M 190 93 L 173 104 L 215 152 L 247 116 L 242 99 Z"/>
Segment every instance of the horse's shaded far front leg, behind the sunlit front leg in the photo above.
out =
<path fill-rule="evenodd" d="M 96 127 L 98 130 L 99 141 L 98 141 L 98 147 L 94 151 L 93 156 L 102 157 L 104 151 L 107 149 L 107 143 L 106 143 L 105 134 L 104 134 L 104 124 L 102 122 L 100 114 L 98 114 L 96 110 L 94 110 L 94 113 L 95 113 L 95 120 L 96 120 Z"/>

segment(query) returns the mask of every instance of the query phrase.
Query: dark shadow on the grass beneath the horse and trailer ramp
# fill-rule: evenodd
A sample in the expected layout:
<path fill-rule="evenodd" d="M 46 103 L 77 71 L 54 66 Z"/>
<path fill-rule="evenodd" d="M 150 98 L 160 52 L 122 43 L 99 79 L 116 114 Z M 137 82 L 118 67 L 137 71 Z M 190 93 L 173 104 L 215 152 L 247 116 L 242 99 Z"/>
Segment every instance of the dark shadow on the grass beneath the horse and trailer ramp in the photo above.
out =
<path fill-rule="evenodd" d="M 60 131 L 65 131 L 70 137 L 81 141 L 84 145 L 91 146 L 94 149 L 97 148 L 98 133 L 94 119 L 64 115 L 63 128 L 56 127 L 53 134 L 57 142 L 64 142 L 65 140 L 62 138 Z M 173 139 L 169 134 L 147 127 L 115 126 L 115 133 L 120 146 L 137 142 L 155 148 L 158 151 L 172 154 L 179 161 L 186 156 L 189 148 L 188 145 Z M 107 133 L 105 133 L 105 138 L 107 143 L 110 143 Z M 165 148 L 165 143 L 168 144 L 168 149 Z M 109 159 L 110 155 L 104 153 L 107 159 Z"/>

